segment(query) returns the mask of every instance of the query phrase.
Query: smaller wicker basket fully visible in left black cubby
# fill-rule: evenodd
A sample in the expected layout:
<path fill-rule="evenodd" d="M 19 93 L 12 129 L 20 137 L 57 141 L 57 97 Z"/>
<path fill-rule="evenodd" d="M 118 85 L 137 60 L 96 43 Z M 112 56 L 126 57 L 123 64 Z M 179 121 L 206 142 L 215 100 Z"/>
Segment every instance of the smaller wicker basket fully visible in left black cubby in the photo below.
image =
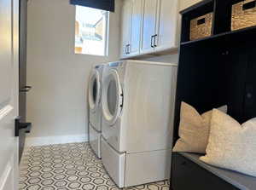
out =
<path fill-rule="evenodd" d="M 205 14 L 190 21 L 190 40 L 212 35 L 212 15 Z"/>

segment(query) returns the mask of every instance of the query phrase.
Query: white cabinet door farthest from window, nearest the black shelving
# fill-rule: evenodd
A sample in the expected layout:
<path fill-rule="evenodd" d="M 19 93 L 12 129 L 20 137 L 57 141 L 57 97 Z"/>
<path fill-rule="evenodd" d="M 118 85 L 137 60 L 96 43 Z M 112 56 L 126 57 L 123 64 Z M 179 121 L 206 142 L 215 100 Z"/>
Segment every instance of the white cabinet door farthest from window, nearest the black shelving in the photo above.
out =
<path fill-rule="evenodd" d="M 178 0 L 160 0 L 155 50 L 177 48 Z"/>

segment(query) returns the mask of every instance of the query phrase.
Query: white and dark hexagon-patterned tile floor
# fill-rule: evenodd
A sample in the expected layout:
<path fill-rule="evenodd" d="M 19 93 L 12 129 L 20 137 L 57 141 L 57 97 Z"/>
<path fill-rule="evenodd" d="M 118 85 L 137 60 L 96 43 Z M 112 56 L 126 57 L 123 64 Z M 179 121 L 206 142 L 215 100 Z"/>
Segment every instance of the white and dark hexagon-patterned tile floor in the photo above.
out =
<path fill-rule="evenodd" d="M 26 149 L 20 162 L 20 190 L 118 190 L 88 143 L 70 143 Z M 160 181 L 134 190 L 168 190 Z"/>

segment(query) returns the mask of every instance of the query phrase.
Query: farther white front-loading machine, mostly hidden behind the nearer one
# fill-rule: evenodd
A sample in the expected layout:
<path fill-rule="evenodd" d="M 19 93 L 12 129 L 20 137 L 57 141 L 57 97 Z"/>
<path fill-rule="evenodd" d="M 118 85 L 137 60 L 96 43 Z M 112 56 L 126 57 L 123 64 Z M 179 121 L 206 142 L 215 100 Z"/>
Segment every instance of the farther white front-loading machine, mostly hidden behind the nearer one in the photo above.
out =
<path fill-rule="evenodd" d="M 101 158 L 102 136 L 102 70 L 103 65 L 94 66 L 89 80 L 89 142 L 90 147 Z"/>

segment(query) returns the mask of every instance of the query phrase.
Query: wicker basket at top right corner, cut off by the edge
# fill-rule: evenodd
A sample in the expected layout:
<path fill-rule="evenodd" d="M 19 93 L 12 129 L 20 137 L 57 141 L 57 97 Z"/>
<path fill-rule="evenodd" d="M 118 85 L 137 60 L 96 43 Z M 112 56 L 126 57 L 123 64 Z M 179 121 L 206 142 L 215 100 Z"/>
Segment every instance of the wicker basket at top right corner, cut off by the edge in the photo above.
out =
<path fill-rule="evenodd" d="M 231 30 L 256 25 L 256 1 L 245 0 L 232 6 Z"/>

